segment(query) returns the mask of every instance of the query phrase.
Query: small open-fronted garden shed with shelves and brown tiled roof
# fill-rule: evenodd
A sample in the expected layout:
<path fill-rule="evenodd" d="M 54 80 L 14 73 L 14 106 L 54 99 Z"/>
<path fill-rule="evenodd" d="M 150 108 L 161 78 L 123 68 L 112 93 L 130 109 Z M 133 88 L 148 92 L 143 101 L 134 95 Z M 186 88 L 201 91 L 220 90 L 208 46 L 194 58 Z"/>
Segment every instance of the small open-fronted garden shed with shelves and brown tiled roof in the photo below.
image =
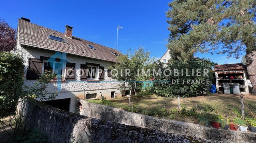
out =
<path fill-rule="evenodd" d="M 232 84 L 239 84 L 240 94 L 252 92 L 252 85 L 247 76 L 246 65 L 242 63 L 215 65 L 214 71 L 217 92 L 224 93 L 224 86 L 228 86 L 228 89 L 230 88 L 229 93 L 232 94 Z"/>

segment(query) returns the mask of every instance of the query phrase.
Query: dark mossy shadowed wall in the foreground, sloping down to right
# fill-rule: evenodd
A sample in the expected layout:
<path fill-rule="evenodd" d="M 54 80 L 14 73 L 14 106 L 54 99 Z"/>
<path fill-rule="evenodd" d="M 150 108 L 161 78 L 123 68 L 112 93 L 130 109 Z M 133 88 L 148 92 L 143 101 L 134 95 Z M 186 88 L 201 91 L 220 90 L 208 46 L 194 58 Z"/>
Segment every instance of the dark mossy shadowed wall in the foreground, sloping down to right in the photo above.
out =
<path fill-rule="evenodd" d="M 47 136 L 49 142 L 209 142 L 188 136 L 103 121 L 38 104 L 37 102 L 32 104 L 35 102 L 20 102 L 18 110 L 31 109 L 27 114 L 26 129 L 38 128 L 40 132 Z M 23 112 L 24 115 L 26 113 Z"/>

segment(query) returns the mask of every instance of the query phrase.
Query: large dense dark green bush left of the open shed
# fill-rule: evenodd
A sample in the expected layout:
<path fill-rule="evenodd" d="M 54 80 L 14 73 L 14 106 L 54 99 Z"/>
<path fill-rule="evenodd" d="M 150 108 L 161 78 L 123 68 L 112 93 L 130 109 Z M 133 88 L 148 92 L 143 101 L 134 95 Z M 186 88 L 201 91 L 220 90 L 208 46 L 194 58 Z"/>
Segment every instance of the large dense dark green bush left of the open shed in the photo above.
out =
<path fill-rule="evenodd" d="M 214 80 L 214 72 L 212 70 L 214 65 L 214 62 L 212 62 L 210 59 L 205 58 L 195 58 L 191 60 L 175 60 L 168 63 L 167 67 L 159 63 L 158 68 L 161 69 L 161 76 L 155 77 L 155 80 L 160 81 L 154 83 L 155 92 L 166 97 L 177 97 L 178 95 L 180 95 L 180 97 L 191 97 L 202 95 L 204 92 L 208 93 L 209 88 Z M 166 68 L 172 70 L 169 77 L 164 76 L 163 72 Z M 174 75 L 174 69 L 179 70 L 178 76 Z M 187 74 L 190 76 L 186 76 L 186 69 Z M 194 76 L 192 76 L 193 69 Z M 201 72 L 201 76 L 196 75 L 196 69 Z M 208 76 L 203 76 L 204 69 L 207 69 L 209 71 Z M 169 71 L 166 71 L 166 75 L 168 75 Z M 172 80 L 179 80 L 180 83 L 174 83 L 172 82 Z M 187 80 L 189 80 L 190 82 L 186 82 Z M 207 80 L 209 81 L 208 83 L 206 83 Z M 197 81 L 205 81 L 205 83 Z"/>

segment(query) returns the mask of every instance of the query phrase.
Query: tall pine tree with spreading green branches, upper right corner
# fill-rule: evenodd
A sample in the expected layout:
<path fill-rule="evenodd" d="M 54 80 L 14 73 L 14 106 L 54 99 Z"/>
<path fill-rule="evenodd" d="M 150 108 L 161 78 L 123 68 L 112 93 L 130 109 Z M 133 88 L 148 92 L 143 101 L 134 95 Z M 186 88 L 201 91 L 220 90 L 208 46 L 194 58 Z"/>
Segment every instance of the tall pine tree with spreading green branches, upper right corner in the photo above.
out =
<path fill-rule="evenodd" d="M 247 72 L 256 90 L 255 5 L 255 0 L 170 2 L 166 14 L 172 59 L 189 59 L 196 52 L 239 58 L 246 51 Z"/>

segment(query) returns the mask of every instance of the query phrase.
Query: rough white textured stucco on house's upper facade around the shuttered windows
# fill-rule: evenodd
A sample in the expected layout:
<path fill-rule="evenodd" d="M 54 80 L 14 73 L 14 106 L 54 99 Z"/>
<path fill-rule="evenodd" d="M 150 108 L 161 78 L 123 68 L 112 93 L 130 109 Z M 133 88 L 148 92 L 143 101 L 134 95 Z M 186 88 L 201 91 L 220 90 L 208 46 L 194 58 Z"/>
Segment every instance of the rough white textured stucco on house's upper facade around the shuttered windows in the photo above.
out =
<path fill-rule="evenodd" d="M 47 50 L 41 50 L 41 49 L 35 49 L 35 48 L 23 48 L 20 45 L 18 45 L 17 53 L 23 55 L 23 58 L 25 60 L 24 65 L 24 71 L 25 75 L 27 73 L 27 67 L 29 58 L 40 58 L 40 56 L 44 57 L 52 57 L 55 52 L 53 51 L 47 51 Z M 50 93 L 65 93 L 65 92 L 79 92 L 79 91 L 95 91 L 95 90 L 105 90 L 105 89 L 117 89 L 118 81 L 115 79 L 112 79 L 111 77 L 107 76 L 107 72 L 105 72 L 104 80 L 103 81 L 97 81 L 97 82 L 91 82 L 91 81 L 81 81 L 80 80 L 80 65 L 88 63 L 96 63 L 100 64 L 100 66 L 104 66 L 104 68 L 108 67 L 108 65 L 113 65 L 112 62 L 102 61 L 102 60 L 93 60 L 89 58 L 83 58 L 75 55 L 69 55 L 67 54 L 67 59 L 70 63 L 75 63 L 75 69 L 76 69 L 76 76 L 74 81 L 66 81 L 61 82 L 61 90 L 57 90 L 57 82 L 51 82 L 48 86 L 48 91 Z M 24 84 L 26 85 L 33 85 L 35 80 L 25 80 Z M 114 90 L 115 91 L 115 90 Z M 111 94 L 111 93 L 110 93 Z"/>

